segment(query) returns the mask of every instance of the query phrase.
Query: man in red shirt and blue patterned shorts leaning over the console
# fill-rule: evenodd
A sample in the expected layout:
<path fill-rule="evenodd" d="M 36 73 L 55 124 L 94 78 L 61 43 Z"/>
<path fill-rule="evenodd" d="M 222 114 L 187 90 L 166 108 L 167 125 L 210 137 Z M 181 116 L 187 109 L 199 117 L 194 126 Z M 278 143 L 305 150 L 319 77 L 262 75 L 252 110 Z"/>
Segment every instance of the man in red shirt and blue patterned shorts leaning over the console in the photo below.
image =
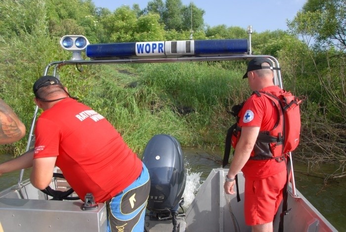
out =
<path fill-rule="evenodd" d="M 73 99 L 60 81 L 43 76 L 33 87 L 43 109 L 35 128 L 35 149 L 0 164 L 0 174 L 33 167 L 30 181 L 44 189 L 54 166 L 78 196 L 92 193 L 107 204 L 108 231 L 143 231 L 150 190 L 147 168 L 100 114 Z"/>

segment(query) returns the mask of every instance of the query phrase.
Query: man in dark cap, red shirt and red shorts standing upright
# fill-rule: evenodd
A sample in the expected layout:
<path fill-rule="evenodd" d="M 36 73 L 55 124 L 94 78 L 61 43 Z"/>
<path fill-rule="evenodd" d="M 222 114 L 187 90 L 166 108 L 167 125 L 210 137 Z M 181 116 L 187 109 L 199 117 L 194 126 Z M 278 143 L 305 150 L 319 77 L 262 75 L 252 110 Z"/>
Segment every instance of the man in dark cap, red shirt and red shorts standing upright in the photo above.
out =
<path fill-rule="evenodd" d="M 249 62 L 243 79 L 248 78 L 252 91 L 273 95 L 282 91 L 274 86 L 271 64 L 269 59 L 263 57 L 256 57 Z M 234 179 L 242 170 L 245 177 L 245 222 L 252 226 L 253 232 L 271 232 L 274 216 L 283 198 L 287 169 L 285 162 L 278 162 L 278 159 L 272 157 L 270 145 L 260 144 L 257 139 L 259 133 L 273 130 L 279 120 L 278 109 L 269 98 L 252 94 L 245 101 L 238 118 L 241 133 L 237 138 L 224 190 L 227 194 L 235 193 Z"/>

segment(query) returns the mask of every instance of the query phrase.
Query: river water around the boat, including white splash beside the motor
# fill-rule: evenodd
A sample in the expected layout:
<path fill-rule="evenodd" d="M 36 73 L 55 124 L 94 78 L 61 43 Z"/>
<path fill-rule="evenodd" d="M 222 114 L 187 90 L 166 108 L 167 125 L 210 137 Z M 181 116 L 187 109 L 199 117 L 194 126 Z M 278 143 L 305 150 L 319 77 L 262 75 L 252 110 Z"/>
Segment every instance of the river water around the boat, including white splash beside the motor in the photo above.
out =
<path fill-rule="evenodd" d="M 186 187 L 183 194 L 185 207 L 188 206 L 199 187 L 213 168 L 221 167 L 221 156 L 197 148 L 183 149 L 187 170 Z M 0 163 L 11 159 L 11 155 L 0 155 Z M 329 166 L 321 167 L 321 172 L 328 171 Z M 322 170 L 323 169 L 323 170 Z M 294 161 L 297 189 L 303 196 L 338 230 L 346 231 L 346 180 L 324 183 L 324 178 L 314 173 L 307 173 L 304 164 Z M 30 175 L 30 169 L 24 172 L 24 180 Z M 18 183 L 19 171 L 0 177 L 0 191 Z"/>

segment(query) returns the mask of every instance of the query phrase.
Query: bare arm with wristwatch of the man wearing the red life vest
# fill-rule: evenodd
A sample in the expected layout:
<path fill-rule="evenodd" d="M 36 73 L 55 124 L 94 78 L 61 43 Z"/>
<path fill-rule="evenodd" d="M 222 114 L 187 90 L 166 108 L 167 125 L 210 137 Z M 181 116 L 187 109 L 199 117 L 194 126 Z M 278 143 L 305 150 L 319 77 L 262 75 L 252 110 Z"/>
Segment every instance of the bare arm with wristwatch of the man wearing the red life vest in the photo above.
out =
<path fill-rule="evenodd" d="M 259 127 L 242 127 L 241 136 L 234 151 L 234 157 L 228 170 L 228 178 L 233 179 L 249 160 L 259 135 Z M 223 188 L 227 194 L 234 194 L 235 182 L 225 182 Z"/>

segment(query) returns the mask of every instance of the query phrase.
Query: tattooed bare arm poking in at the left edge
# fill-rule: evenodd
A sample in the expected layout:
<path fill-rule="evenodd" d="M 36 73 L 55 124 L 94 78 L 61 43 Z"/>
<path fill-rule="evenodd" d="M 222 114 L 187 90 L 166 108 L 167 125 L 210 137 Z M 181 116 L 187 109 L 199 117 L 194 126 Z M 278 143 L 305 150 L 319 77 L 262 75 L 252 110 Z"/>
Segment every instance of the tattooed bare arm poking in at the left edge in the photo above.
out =
<path fill-rule="evenodd" d="M 24 124 L 11 107 L 0 99 L 0 144 L 12 143 L 24 136 Z"/>

